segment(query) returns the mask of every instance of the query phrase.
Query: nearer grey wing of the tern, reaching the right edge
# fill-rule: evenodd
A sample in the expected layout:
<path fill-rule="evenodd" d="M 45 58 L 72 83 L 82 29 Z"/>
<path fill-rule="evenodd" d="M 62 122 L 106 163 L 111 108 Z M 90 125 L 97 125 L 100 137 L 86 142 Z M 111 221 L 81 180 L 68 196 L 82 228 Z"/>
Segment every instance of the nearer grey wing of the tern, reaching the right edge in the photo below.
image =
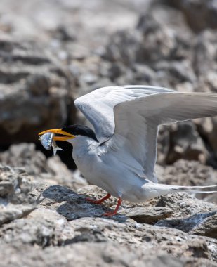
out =
<path fill-rule="evenodd" d="M 157 158 L 159 124 L 169 124 L 217 115 L 217 93 L 157 93 L 119 103 L 114 107 L 114 135 L 108 148 L 118 150 L 126 165 L 131 159 L 143 167 L 144 174 L 157 182 L 154 165 Z"/>

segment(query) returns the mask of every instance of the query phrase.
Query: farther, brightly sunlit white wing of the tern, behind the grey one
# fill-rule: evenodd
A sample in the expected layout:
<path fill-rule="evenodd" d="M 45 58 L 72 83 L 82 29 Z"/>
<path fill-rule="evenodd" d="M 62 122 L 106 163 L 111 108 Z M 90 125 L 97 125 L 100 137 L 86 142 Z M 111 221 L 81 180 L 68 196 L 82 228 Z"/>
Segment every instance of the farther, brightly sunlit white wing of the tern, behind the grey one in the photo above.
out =
<path fill-rule="evenodd" d="M 114 106 L 152 93 L 172 92 L 156 86 L 109 86 L 77 98 L 74 105 L 93 124 L 98 141 L 106 141 L 114 133 Z"/>

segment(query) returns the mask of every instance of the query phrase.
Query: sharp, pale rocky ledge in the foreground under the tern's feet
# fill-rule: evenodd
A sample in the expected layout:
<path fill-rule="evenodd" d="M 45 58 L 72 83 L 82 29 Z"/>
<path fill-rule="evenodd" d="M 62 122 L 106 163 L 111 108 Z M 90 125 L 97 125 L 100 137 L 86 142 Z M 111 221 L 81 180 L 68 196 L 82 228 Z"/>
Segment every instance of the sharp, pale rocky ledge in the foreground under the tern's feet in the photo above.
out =
<path fill-rule="evenodd" d="M 187 193 L 178 193 L 158 197 L 144 204 L 123 202 L 119 214 L 108 219 L 102 214 L 112 208 L 117 200 L 112 198 L 103 205 L 87 202 L 86 196 L 100 197 L 103 194 L 94 185 L 86 185 L 78 194 L 61 185 L 37 181 L 37 176 L 30 182 L 27 173 L 22 171 L 20 174 L 11 167 L 1 167 L 1 173 L 8 184 L 13 184 L 15 177 L 18 177 L 17 181 L 22 181 L 16 190 L 11 186 L 12 190 L 7 191 L 10 194 L 2 195 L 5 201 L 32 205 L 34 200 L 36 204 L 32 206 L 36 207 L 32 208 L 32 212 L 29 210 L 23 212 L 22 216 L 1 221 L 0 251 L 4 251 L 3 265 L 10 266 L 9 252 L 13 252 L 12 262 L 16 261 L 14 266 L 21 266 L 24 261 L 28 262 L 28 266 L 32 266 L 33 261 L 34 264 L 48 266 L 49 257 L 46 255 L 50 253 L 51 262 L 55 259 L 61 263 L 62 259 L 58 256 L 60 252 L 65 254 L 65 266 L 70 264 L 74 254 L 77 254 L 73 258 L 74 263 L 84 264 L 89 261 L 90 266 L 94 266 L 96 261 L 108 266 L 113 263 L 126 266 L 124 254 L 129 254 L 129 259 L 135 264 L 147 259 L 150 266 L 157 262 L 183 266 L 186 262 L 211 264 L 217 261 L 217 242 L 213 239 L 216 235 L 211 234 L 211 229 L 214 231 L 212 233 L 216 231 L 216 223 L 213 221 L 216 216 L 215 204 L 197 200 Z M 29 185 L 32 186 L 30 192 Z M 202 212 L 207 215 L 202 215 Z M 178 225 L 174 221 L 181 221 L 179 217 L 183 214 L 189 216 L 189 219 L 183 220 L 185 223 L 181 227 L 181 223 Z M 197 221 L 197 225 L 190 226 L 192 221 Z M 167 224 L 162 227 L 164 222 Z M 208 225 L 209 233 L 205 231 Z M 80 254 L 82 249 L 83 252 L 88 249 L 85 254 L 81 253 L 83 256 Z M 24 253 L 25 260 L 22 259 Z M 91 260 L 88 260 L 89 256 Z"/>

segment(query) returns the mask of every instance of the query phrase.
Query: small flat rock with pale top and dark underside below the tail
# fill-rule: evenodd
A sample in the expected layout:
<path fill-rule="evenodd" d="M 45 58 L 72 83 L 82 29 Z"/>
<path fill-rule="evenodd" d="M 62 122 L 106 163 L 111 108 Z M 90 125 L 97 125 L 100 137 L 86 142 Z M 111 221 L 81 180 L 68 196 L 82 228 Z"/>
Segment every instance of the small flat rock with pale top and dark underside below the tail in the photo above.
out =
<path fill-rule="evenodd" d="M 165 207 L 135 207 L 132 209 L 121 210 L 124 214 L 138 223 L 154 224 L 157 221 L 170 217 L 173 210 Z"/>

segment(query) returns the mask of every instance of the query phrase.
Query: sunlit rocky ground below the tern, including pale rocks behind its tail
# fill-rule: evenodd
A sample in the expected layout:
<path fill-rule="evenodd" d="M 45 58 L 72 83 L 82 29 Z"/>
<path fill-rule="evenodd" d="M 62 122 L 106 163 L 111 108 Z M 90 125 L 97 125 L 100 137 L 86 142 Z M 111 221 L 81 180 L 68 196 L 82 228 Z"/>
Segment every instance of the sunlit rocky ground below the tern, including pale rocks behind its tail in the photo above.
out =
<path fill-rule="evenodd" d="M 217 266 L 214 203 L 177 193 L 143 204 L 125 201 L 107 219 L 102 214 L 117 200 L 86 202 L 105 192 L 69 171 L 58 156 L 46 161 L 33 144 L 22 143 L 0 159 L 2 266 Z M 181 184 L 188 178 L 187 184 L 217 181 L 216 171 L 199 162 L 157 170 L 164 183 L 173 172 Z"/>

